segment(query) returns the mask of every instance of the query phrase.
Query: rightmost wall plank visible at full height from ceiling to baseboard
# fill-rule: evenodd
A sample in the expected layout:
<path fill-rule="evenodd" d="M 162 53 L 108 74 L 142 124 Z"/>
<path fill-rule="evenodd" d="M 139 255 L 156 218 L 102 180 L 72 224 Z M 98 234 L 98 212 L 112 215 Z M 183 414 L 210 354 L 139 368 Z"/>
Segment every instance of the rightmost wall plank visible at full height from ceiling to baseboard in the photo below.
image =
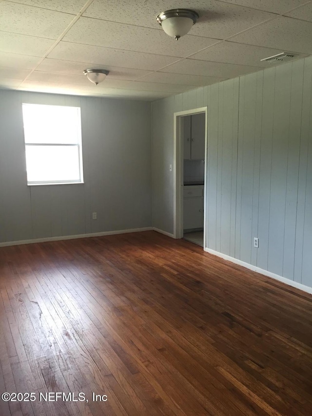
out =
<path fill-rule="evenodd" d="M 303 97 L 303 67 L 303 59 L 292 63 L 283 257 L 283 276 L 288 279 L 294 278 L 298 171 Z"/>

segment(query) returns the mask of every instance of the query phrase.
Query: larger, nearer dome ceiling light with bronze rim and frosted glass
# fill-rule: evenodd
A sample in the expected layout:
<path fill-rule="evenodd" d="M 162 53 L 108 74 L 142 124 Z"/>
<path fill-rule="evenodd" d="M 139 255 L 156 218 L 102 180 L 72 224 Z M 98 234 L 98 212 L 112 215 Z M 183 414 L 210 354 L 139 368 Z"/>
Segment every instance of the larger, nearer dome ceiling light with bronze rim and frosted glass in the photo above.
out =
<path fill-rule="evenodd" d="M 198 18 L 198 14 L 193 10 L 171 9 L 159 13 L 156 20 L 167 35 L 178 40 L 189 33 Z"/>

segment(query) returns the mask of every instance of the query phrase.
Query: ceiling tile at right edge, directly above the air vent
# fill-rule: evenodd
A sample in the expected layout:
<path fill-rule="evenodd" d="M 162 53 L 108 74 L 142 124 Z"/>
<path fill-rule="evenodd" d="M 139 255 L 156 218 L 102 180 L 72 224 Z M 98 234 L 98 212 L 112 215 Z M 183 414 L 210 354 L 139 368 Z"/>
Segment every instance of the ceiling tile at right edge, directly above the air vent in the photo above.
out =
<path fill-rule="evenodd" d="M 234 42 L 312 54 L 312 22 L 280 16 L 231 38 Z"/>

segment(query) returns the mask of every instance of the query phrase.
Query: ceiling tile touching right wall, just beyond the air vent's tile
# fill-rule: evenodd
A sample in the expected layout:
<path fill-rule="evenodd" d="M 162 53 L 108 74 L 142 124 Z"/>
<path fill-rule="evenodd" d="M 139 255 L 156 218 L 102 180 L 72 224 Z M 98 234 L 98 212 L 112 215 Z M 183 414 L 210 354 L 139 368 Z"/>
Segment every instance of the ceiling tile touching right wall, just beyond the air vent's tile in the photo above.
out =
<path fill-rule="evenodd" d="M 175 74 L 200 75 L 204 77 L 235 78 L 239 75 L 256 72 L 261 68 L 235 65 L 232 63 L 210 62 L 195 59 L 183 59 L 167 66 L 161 71 Z"/>

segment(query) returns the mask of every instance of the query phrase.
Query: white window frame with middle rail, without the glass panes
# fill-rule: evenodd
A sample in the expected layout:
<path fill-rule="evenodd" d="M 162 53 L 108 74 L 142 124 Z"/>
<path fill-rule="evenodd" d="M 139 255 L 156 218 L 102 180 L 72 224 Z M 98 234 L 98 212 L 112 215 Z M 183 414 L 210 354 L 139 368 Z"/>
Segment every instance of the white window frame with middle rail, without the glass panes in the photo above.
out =
<path fill-rule="evenodd" d="M 81 107 L 77 105 L 63 105 L 63 104 L 41 104 L 41 103 L 33 103 L 33 102 L 22 102 L 22 108 L 24 105 L 39 105 L 39 106 L 46 106 L 46 107 L 74 107 L 78 109 L 78 135 L 77 135 L 77 143 L 26 143 L 25 141 L 25 130 L 24 130 L 24 114 L 22 111 L 22 119 L 23 119 L 23 136 L 24 136 L 24 146 L 25 146 L 25 163 L 26 163 L 26 180 L 27 186 L 40 186 L 40 185 L 71 185 L 71 184 L 80 184 L 84 183 L 83 180 L 83 159 L 82 159 L 82 132 L 81 132 Z M 30 181 L 27 177 L 27 161 L 26 161 L 26 146 L 62 146 L 62 147 L 77 147 L 78 148 L 78 170 L 79 170 L 79 179 L 60 179 L 60 180 L 36 180 Z"/>

